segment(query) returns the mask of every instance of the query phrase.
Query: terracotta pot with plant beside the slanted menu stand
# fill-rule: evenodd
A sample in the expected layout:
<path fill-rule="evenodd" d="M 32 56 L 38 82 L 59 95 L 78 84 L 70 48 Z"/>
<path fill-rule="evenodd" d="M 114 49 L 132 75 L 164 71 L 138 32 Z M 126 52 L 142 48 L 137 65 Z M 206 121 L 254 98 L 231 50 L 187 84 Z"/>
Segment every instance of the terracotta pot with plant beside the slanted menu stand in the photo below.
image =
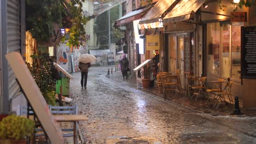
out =
<path fill-rule="evenodd" d="M 143 67 L 143 70 L 141 72 L 142 74 L 142 86 L 143 88 L 148 88 L 150 87 L 150 75 L 151 75 L 151 71 L 152 71 L 152 68 L 151 68 L 151 65 L 150 64 L 146 64 L 144 65 Z"/>

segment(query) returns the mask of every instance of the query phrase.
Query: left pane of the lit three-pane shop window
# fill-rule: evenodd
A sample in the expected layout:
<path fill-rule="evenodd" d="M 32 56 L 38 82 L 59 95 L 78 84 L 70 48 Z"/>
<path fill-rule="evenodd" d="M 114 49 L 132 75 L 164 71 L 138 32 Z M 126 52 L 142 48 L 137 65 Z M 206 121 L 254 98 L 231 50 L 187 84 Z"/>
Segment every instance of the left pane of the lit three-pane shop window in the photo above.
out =
<path fill-rule="evenodd" d="M 220 23 L 207 23 L 207 73 L 220 74 Z"/>

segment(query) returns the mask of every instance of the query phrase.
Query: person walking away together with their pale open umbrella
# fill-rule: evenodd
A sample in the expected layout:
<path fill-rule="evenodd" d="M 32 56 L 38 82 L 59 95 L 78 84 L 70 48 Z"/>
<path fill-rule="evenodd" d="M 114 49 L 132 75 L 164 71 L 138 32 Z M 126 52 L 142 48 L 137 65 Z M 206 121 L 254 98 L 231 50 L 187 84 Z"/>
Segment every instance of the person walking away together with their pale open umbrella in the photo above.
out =
<path fill-rule="evenodd" d="M 81 87 L 87 88 L 88 69 L 91 67 L 91 62 L 95 61 L 96 57 L 90 54 L 83 54 L 78 58 L 78 68 L 81 71 Z"/>

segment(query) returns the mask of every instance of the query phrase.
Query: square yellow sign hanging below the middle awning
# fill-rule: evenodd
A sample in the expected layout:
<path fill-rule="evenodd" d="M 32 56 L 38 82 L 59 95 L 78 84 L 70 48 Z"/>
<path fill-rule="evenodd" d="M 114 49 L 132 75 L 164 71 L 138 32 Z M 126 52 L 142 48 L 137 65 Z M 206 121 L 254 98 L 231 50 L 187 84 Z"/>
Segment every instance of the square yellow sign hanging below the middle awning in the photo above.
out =
<path fill-rule="evenodd" d="M 159 50 L 162 49 L 162 35 L 146 35 L 146 49 Z"/>

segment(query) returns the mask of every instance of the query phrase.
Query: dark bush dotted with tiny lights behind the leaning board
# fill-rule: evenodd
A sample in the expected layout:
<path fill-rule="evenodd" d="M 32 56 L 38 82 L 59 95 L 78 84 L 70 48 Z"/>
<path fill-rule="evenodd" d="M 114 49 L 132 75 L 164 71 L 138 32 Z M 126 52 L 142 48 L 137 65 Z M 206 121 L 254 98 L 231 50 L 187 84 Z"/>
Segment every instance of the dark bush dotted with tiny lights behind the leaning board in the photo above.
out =
<path fill-rule="evenodd" d="M 49 53 L 41 55 L 32 55 L 33 64 L 31 74 L 36 81 L 37 86 L 42 92 L 46 102 L 49 105 L 55 105 L 55 83 L 51 76 L 51 63 L 49 62 Z"/>

